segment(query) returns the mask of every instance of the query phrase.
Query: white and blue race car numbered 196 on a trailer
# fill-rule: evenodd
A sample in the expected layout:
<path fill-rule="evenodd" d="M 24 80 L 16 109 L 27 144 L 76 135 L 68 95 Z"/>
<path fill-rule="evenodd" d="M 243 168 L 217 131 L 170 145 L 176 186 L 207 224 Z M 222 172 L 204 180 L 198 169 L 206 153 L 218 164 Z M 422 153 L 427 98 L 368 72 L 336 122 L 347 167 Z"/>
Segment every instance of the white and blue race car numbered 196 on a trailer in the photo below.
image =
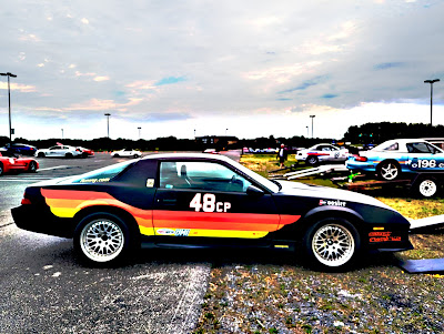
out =
<path fill-rule="evenodd" d="M 401 173 L 444 173 L 444 151 L 423 139 L 395 139 L 351 155 L 346 166 L 389 181 Z"/>

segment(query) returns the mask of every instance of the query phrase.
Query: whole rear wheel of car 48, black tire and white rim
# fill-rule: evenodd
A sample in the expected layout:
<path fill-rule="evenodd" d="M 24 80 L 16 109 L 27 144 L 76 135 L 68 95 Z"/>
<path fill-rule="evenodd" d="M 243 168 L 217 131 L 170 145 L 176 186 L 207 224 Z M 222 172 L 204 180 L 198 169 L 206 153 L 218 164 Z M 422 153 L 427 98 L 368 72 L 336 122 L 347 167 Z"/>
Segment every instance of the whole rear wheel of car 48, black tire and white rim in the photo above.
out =
<path fill-rule="evenodd" d="M 113 265 L 121 263 L 133 249 L 134 237 L 125 222 L 108 212 L 91 213 L 74 231 L 74 251 L 85 263 Z"/>

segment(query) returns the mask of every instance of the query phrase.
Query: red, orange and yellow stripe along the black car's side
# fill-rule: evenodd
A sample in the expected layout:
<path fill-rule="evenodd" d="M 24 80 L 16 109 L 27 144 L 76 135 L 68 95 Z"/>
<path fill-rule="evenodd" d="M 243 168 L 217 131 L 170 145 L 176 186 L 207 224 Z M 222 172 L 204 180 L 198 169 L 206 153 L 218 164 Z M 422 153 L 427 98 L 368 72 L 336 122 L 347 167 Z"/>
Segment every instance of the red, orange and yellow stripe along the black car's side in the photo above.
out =
<path fill-rule="evenodd" d="M 208 236 L 260 239 L 296 222 L 300 215 L 142 210 L 125 204 L 108 193 L 95 191 L 41 189 L 51 212 L 59 217 L 73 217 L 93 205 L 110 205 L 129 212 L 143 235 Z"/>

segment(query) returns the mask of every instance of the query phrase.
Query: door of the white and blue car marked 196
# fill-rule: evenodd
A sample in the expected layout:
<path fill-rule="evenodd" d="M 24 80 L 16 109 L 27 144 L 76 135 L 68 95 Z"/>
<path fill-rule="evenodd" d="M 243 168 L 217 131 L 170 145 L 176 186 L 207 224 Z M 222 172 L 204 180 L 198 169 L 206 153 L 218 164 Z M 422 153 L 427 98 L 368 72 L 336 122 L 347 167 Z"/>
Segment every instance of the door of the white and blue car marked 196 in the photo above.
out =
<path fill-rule="evenodd" d="M 444 172 L 444 153 L 426 142 L 406 144 L 410 168 L 417 172 Z"/>

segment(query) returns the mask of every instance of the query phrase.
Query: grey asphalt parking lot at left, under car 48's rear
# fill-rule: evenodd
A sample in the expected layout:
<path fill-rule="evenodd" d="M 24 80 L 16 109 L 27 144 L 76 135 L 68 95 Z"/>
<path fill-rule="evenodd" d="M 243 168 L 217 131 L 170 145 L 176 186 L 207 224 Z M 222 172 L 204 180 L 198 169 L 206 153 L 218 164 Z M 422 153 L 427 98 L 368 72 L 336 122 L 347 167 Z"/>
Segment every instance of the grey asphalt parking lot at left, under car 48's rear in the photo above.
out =
<path fill-rule="evenodd" d="M 0 333 L 190 333 L 195 326 L 210 275 L 205 260 L 160 250 L 143 251 L 124 267 L 84 267 L 72 240 L 12 223 L 9 210 L 27 185 L 123 160 L 39 158 L 37 173 L 0 176 Z"/>

